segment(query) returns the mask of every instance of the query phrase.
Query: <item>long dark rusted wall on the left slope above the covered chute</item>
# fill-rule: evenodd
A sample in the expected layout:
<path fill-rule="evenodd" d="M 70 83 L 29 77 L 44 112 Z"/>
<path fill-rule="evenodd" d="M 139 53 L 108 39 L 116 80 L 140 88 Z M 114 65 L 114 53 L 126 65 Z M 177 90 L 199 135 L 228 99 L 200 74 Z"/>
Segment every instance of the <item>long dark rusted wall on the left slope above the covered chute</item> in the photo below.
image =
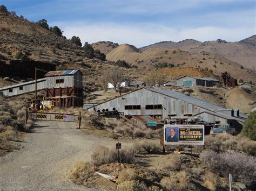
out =
<path fill-rule="evenodd" d="M 38 62 L 33 60 L 9 60 L 0 61 L 0 76 L 11 77 L 17 76 L 21 78 L 35 79 L 35 68 L 45 70 L 46 72 L 56 70 L 56 66 L 51 63 Z M 45 72 L 38 70 L 37 78 L 43 78 Z"/>

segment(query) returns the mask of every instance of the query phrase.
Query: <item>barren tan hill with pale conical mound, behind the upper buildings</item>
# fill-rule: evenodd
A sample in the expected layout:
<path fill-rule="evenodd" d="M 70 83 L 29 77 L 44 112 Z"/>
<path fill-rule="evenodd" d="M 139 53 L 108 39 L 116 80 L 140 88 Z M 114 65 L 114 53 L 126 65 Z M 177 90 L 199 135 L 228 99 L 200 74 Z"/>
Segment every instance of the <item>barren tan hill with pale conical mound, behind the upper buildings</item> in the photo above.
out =
<path fill-rule="evenodd" d="M 236 62 L 228 60 L 223 56 L 213 53 L 189 53 L 179 48 L 149 48 L 138 52 L 130 45 L 120 45 L 107 54 L 107 60 L 125 60 L 138 68 L 154 70 L 157 67 L 170 66 L 194 67 L 204 70 L 212 70 L 214 75 L 220 76 L 228 72 L 235 79 L 255 81 L 255 72 L 243 68 Z M 181 74 L 180 74 L 181 75 Z"/>

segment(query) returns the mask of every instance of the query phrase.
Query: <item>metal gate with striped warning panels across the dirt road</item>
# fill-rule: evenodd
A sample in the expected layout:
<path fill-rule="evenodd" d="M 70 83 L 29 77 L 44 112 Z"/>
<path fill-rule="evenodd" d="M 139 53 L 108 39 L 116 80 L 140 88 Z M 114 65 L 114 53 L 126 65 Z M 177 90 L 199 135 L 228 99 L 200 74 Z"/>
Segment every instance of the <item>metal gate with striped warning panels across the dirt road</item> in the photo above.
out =
<path fill-rule="evenodd" d="M 80 129 L 81 125 L 81 112 L 79 115 L 73 114 L 61 114 L 61 113 L 52 113 L 52 112 L 26 112 L 26 121 L 31 117 L 32 120 L 39 121 L 55 121 L 55 122 L 73 122 L 78 123 L 78 128 Z"/>

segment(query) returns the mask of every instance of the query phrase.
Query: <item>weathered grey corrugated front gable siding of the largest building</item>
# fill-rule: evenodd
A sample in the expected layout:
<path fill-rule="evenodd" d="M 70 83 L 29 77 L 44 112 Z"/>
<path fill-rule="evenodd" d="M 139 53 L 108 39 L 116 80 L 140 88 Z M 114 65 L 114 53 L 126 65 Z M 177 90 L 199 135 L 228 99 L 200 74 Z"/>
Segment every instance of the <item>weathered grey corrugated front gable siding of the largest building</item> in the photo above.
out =
<path fill-rule="evenodd" d="M 162 104 L 163 109 L 145 109 L 145 105 L 152 104 Z M 140 105 L 141 109 L 125 110 L 125 105 Z M 113 108 L 116 108 L 116 110 L 124 112 L 124 115 L 163 115 L 163 119 L 168 117 L 168 115 L 170 114 L 177 114 L 177 116 L 183 116 L 184 114 L 194 115 L 204 111 L 203 108 L 195 107 L 193 112 L 193 104 L 177 100 L 169 96 L 157 94 L 147 89 L 140 89 L 138 91 L 134 91 L 133 93 L 115 98 L 103 104 L 99 104 L 95 108 L 96 111 L 102 111 L 102 109 L 112 110 Z M 89 111 L 93 111 L 93 108 L 90 108 Z"/>

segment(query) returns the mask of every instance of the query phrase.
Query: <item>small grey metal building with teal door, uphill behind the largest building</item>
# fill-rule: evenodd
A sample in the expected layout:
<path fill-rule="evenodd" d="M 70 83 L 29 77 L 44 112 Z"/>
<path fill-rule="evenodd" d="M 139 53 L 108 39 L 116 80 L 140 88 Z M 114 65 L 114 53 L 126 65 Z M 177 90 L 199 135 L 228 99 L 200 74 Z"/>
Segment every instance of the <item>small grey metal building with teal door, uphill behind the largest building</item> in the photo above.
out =
<path fill-rule="evenodd" d="M 212 77 L 183 76 L 177 79 L 177 86 L 217 86 L 220 81 Z"/>

